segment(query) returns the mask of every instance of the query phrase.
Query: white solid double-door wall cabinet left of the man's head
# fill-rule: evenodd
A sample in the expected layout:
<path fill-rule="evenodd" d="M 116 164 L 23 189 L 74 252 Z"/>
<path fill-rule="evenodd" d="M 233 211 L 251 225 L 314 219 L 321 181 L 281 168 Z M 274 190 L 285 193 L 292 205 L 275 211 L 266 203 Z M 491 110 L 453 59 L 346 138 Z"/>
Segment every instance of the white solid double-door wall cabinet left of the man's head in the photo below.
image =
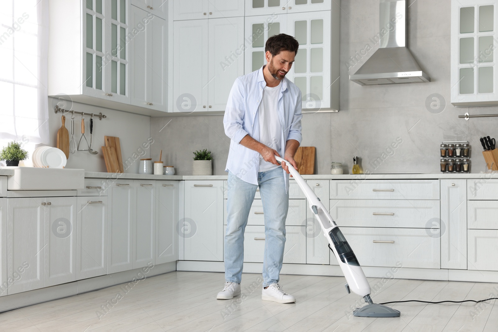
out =
<path fill-rule="evenodd" d="M 236 78 L 244 74 L 244 17 L 173 24 L 173 111 L 225 111 Z"/>

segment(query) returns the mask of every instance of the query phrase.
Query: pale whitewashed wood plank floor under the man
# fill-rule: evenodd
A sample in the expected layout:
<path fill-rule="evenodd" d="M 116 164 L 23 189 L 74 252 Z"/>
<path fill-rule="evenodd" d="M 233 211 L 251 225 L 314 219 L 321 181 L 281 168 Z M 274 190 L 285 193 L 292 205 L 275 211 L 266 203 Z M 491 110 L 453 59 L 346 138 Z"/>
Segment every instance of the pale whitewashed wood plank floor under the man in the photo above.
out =
<path fill-rule="evenodd" d="M 280 284 L 296 297 L 295 304 L 262 301 L 260 277 L 244 274 L 240 298 L 216 300 L 223 273 L 171 272 L 147 277 L 127 293 L 118 285 L 2 313 L 0 331 L 498 331 L 495 300 L 480 308 L 472 303 L 403 303 L 394 305 L 400 318 L 359 318 L 351 311 L 363 301 L 346 293 L 342 277 L 281 275 Z M 372 286 L 379 281 L 369 278 Z M 497 290 L 498 284 L 491 283 L 393 279 L 373 300 L 480 300 Z"/>

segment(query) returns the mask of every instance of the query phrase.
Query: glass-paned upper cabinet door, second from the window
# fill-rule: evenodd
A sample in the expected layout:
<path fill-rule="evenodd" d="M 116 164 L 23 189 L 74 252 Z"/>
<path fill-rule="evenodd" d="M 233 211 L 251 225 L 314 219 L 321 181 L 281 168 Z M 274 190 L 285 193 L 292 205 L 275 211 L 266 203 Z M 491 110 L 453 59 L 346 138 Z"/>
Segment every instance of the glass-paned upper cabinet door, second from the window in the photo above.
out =
<path fill-rule="evenodd" d="M 106 96 L 109 100 L 129 103 L 128 86 L 128 8 L 129 0 L 107 0 L 111 14 L 107 17 L 110 26 L 110 43 L 106 49 L 106 65 L 109 84 L 106 85 Z M 106 67 L 107 67 L 106 66 Z"/>

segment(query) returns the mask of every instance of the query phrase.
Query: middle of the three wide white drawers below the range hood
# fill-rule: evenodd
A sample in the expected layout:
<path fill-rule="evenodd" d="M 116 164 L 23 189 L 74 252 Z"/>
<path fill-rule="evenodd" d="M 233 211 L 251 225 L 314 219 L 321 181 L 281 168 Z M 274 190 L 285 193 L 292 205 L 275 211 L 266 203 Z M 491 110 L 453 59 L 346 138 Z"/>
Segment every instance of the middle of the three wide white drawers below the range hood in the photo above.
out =
<path fill-rule="evenodd" d="M 330 200 L 330 206 L 337 224 L 351 227 L 431 228 L 440 215 L 437 200 Z"/>

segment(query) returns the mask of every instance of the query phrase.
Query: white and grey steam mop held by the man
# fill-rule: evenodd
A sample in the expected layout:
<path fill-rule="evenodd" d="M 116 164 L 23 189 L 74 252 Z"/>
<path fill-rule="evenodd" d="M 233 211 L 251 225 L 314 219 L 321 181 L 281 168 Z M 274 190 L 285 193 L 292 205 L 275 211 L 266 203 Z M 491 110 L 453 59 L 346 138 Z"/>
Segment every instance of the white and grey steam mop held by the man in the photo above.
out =
<path fill-rule="evenodd" d="M 289 173 L 296 180 L 299 188 L 301 188 L 308 199 L 309 207 L 320 223 L 323 234 L 329 242 L 329 248 L 336 256 L 337 262 L 344 273 L 347 282 L 345 285 L 346 291 L 348 293 L 353 291 L 362 296 L 365 303 L 367 303 L 366 306 L 357 308 L 353 312 L 353 315 L 357 317 L 399 317 L 401 313 L 398 310 L 373 303 L 372 298 L 370 297 L 371 289 L 367 277 L 365 277 L 365 273 L 363 273 L 362 267 L 360 266 L 358 259 L 356 259 L 353 249 L 349 246 L 348 241 L 339 229 L 339 226 L 337 226 L 323 203 L 292 164 L 278 156 L 275 156 L 275 158 L 280 163 L 285 161 L 289 168 Z"/>

